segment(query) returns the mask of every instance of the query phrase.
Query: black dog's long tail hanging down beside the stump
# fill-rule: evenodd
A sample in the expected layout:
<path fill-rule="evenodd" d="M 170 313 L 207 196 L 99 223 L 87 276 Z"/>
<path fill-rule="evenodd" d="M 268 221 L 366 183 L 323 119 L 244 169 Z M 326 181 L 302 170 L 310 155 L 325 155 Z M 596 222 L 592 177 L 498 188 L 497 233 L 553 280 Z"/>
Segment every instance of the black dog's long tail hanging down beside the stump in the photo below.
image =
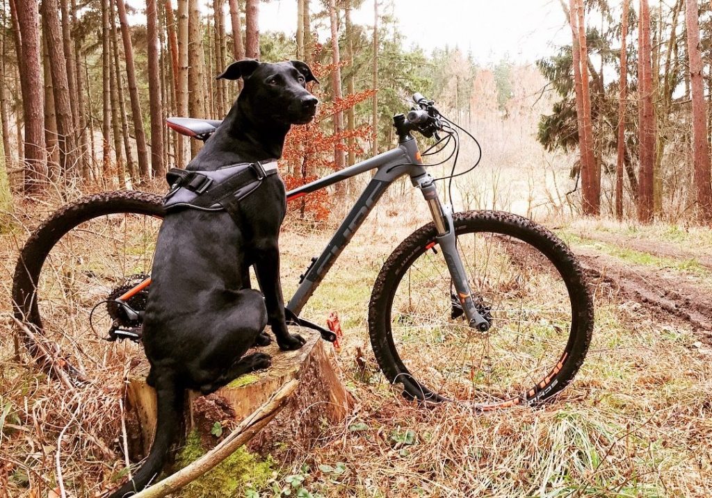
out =
<path fill-rule="evenodd" d="M 155 376 L 158 404 L 156 435 L 146 461 L 129 482 L 108 498 L 125 498 L 140 492 L 161 472 L 168 450 L 175 439 L 183 412 L 185 390 L 178 386 L 173 376 Z"/>

